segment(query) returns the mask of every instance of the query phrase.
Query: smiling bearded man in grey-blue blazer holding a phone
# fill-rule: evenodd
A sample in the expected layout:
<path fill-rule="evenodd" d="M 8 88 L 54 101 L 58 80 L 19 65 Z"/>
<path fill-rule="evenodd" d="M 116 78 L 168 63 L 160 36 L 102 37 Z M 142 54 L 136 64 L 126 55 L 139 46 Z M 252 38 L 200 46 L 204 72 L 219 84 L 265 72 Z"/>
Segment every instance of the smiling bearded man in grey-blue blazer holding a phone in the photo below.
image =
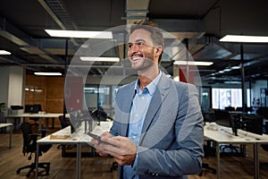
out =
<path fill-rule="evenodd" d="M 159 70 L 163 34 L 150 21 L 130 28 L 129 58 L 138 80 L 121 87 L 114 122 L 101 141 L 119 178 L 187 178 L 198 174 L 203 158 L 203 118 L 194 85 L 172 81 Z"/>

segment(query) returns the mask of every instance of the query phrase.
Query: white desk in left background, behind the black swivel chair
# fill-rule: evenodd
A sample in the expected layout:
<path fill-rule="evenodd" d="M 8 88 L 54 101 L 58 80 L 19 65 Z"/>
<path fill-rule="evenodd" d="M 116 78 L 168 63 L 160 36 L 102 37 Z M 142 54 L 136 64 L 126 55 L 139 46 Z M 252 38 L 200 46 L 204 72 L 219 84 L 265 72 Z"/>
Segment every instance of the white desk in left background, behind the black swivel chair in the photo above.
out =
<path fill-rule="evenodd" d="M 42 128 L 42 120 L 46 118 L 46 129 L 48 127 L 48 119 L 49 118 L 58 118 L 60 115 L 63 115 L 62 113 L 45 113 L 45 114 L 30 114 L 30 113 L 24 113 L 21 115 L 6 115 L 5 118 L 28 118 L 28 117 L 34 117 L 39 119 L 39 126 L 38 129 Z M 54 127 L 54 122 L 53 122 Z"/>

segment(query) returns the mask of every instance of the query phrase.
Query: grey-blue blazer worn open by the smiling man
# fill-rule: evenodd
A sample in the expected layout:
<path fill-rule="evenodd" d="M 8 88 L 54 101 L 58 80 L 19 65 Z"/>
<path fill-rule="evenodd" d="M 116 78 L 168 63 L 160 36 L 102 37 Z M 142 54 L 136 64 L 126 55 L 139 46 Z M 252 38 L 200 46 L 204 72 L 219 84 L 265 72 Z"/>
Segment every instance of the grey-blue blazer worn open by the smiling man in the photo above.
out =
<path fill-rule="evenodd" d="M 115 98 L 113 135 L 128 135 L 135 81 Z M 187 178 L 202 167 L 203 116 L 194 85 L 172 81 L 163 73 L 147 111 L 138 145 L 135 173 L 142 178 Z M 119 178 L 122 167 L 119 166 Z"/>

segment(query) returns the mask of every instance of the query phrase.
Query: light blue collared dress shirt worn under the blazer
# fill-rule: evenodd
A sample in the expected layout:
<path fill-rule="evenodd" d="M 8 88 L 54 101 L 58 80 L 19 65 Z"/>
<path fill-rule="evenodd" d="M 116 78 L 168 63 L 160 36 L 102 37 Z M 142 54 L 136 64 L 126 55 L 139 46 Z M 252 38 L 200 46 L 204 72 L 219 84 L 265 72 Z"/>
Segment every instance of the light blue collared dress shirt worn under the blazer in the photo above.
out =
<path fill-rule="evenodd" d="M 128 137 L 136 145 L 139 143 L 142 126 L 147 115 L 147 110 L 161 75 L 162 72 L 160 71 L 155 80 L 151 81 L 142 91 L 139 88 L 139 81 L 136 81 L 135 97 L 132 100 L 132 107 L 130 110 L 130 124 L 128 133 Z M 137 165 L 137 157 L 133 166 L 124 166 L 124 179 L 138 179 L 138 175 L 135 175 L 133 172 L 135 166 Z"/>

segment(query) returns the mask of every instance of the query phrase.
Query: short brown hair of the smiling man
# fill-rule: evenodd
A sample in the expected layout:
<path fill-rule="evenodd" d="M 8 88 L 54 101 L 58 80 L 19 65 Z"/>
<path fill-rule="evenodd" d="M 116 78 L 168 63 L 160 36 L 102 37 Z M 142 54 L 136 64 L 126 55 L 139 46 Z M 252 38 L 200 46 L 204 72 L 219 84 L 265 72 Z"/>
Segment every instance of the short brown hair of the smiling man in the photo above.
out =
<path fill-rule="evenodd" d="M 130 27 L 130 34 L 134 30 L 147 30 L 151 33 L 151 38 L 153 39 L 153 43 L 155 46 L 164 46 L 163 43 L 163 33 L 161 30 L 157 28 L 157 24 L 154 21 L 134 21 L 134 23 Z M 158 64 L 161 61 L 163 52 L 158 58 Z"/>

